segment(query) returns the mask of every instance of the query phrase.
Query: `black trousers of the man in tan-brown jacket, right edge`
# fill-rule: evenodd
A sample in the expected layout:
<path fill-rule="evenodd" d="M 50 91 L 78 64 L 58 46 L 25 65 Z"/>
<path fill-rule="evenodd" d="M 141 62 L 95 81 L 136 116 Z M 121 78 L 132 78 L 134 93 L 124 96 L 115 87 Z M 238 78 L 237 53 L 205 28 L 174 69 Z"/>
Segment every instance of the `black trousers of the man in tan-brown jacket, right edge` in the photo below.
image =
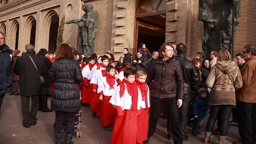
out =
<path fill-rule="evenodd" d="M 238 128 L 243 144 L 256 144 L 256 103 L 237 101 Z"/>

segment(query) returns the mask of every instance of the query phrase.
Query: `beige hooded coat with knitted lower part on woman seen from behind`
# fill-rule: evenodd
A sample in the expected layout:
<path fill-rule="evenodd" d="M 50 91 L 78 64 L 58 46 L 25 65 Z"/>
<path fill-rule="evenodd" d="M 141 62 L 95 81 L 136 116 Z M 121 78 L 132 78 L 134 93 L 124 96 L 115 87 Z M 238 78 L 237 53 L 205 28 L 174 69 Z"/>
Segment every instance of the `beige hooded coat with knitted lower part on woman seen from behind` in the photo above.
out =
<path fill-rule="evenodd" d="M 235 105 L 235 90 L 242 87 L 242 76 L 234 61 L 218 61 L 206 80 L 211 88 L 209 104 Z"/>

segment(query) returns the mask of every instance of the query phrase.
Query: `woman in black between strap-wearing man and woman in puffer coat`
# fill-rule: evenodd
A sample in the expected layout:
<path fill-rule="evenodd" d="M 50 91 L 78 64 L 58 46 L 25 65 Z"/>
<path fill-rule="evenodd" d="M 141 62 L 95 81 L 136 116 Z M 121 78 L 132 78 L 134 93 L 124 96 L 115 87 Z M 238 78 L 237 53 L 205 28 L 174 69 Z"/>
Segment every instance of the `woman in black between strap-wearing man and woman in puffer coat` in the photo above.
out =
<path fill-rule="evenodd" d="M 48 51 L 46 49 L 40 49 L 38 56 L 44 60 L 44 64 L 47 67 L 47 73 L 43 75 L 45 84 L 41 85 L 40 95 L 38 98 L 38 111 L 52 112 L 52 110 L 47 107 L 47 97 L 51 95 L 51 81 L 49 78 L 50 69 L 52 67 L 52 62 L 47 58 Z"/>

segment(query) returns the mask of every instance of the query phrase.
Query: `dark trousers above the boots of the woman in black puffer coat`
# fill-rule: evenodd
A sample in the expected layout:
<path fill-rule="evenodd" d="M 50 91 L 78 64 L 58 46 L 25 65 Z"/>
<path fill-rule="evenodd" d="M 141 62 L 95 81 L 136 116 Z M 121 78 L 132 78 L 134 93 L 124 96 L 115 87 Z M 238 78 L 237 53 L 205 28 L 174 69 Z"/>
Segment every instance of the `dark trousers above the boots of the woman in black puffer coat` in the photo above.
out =
<path fill-rule="evenodd" d="M 74 129 L 76 112 L 65 113 L 62 111 L 55 111 L 55 128 L 57 132 L 61 132 L 63 122 L 66 114 L 66 132 L 70 133 Z"/>

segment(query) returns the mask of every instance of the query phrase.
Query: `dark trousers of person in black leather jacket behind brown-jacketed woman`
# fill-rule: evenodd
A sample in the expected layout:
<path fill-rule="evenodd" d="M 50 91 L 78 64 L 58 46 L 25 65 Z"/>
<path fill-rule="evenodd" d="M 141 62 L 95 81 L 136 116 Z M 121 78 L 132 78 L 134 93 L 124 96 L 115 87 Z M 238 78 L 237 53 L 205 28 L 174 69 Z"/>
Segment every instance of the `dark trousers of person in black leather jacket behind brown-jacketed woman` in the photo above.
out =
<path fill-rule="evenodd" d="M 190 95 L 185 95 L 182 101 L 182 105 L 180 106 L 180 109 L 179 109 L 181 133 L 183 136 L 186 134 L 186 130 L 187 130 L 187 109 L 189 104 L 190 104 Z M 167 132 L 168 133 L 172 132 L 169 118 L 167 120 Z"/>

